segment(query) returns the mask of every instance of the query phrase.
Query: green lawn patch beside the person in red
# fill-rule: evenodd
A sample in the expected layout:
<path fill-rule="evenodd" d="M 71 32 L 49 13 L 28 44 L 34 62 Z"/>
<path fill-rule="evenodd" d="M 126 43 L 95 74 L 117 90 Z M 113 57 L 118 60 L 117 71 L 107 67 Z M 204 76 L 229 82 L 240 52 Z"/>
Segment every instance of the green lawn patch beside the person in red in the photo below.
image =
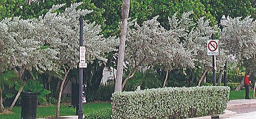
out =
<path fill-rule="evenodd" d="M 253 90 L 250 90 L 249 96 L 250 98 L 253 97 Z M 229 94 L 229 100 L 244 99 L 245 97 L 246 97 L 246 90 L 230 91 L 230 94 Z"/>

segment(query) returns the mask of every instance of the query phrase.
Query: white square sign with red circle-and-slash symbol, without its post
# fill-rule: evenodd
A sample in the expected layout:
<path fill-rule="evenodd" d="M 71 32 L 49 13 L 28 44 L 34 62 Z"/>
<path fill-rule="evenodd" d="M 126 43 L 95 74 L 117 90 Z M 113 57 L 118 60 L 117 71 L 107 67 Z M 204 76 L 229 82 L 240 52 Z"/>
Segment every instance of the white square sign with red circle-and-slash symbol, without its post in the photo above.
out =
<path fill-rule="evenodd" d="M 219 55 L 219 40 L 207 40 L 207 55 Z"/>

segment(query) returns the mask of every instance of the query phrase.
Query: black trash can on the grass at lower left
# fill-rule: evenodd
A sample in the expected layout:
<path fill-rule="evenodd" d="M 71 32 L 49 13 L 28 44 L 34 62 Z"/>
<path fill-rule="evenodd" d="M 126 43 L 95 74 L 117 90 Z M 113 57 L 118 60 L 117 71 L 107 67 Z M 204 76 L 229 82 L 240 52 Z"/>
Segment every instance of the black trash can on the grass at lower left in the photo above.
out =
<path fill-rule="evenodd" d="M 22 92 L 23 119 L 37 118 L 37 95 L 39 92 Z"/>

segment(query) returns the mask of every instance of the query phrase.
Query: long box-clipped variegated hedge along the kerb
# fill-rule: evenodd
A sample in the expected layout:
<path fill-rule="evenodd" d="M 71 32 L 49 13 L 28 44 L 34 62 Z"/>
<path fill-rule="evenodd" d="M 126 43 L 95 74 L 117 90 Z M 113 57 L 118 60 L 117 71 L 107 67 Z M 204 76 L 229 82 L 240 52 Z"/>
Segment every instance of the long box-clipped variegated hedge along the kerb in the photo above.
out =
<path fill-rule="evenodd" d="M 222 114 L 229 87 L 156 88 L 112 94 L 112 118 L 190 118 Z"/>

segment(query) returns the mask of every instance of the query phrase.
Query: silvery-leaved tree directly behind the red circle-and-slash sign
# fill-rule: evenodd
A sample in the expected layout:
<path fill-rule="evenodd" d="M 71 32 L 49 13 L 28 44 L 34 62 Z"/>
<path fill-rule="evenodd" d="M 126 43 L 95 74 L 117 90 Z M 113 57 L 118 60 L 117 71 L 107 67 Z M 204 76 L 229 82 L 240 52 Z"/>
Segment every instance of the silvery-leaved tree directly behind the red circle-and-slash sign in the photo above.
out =
<path fill-rule="evenodd" d="M 218 26 L 211 27 L 209 20 L 205 20 L 205 17 L 194 22 L 189 18 L 191 13 L 183 14 L 180 20 L 176 20 L 174 15 L 172 19 L 169 18 L 169 25 L 170 29 L 179 33 L 179 38 L 183 39 L 181 42 L 186 46 L 186 49 L 189 49 L 194 65 L 205 66 L 205 72 L 200 79 L 201 82 L 206 72 L 212 67 L 212 56 L 207 55 L 207 40 L 211 40 L 211 35 L 218 32 Z M 222 69 L 226 59 L 226 51 L 222 48 L 222 42 L 220 42 L 220 46 L 219 55 L 216 56 L 216 66 Z"/>

